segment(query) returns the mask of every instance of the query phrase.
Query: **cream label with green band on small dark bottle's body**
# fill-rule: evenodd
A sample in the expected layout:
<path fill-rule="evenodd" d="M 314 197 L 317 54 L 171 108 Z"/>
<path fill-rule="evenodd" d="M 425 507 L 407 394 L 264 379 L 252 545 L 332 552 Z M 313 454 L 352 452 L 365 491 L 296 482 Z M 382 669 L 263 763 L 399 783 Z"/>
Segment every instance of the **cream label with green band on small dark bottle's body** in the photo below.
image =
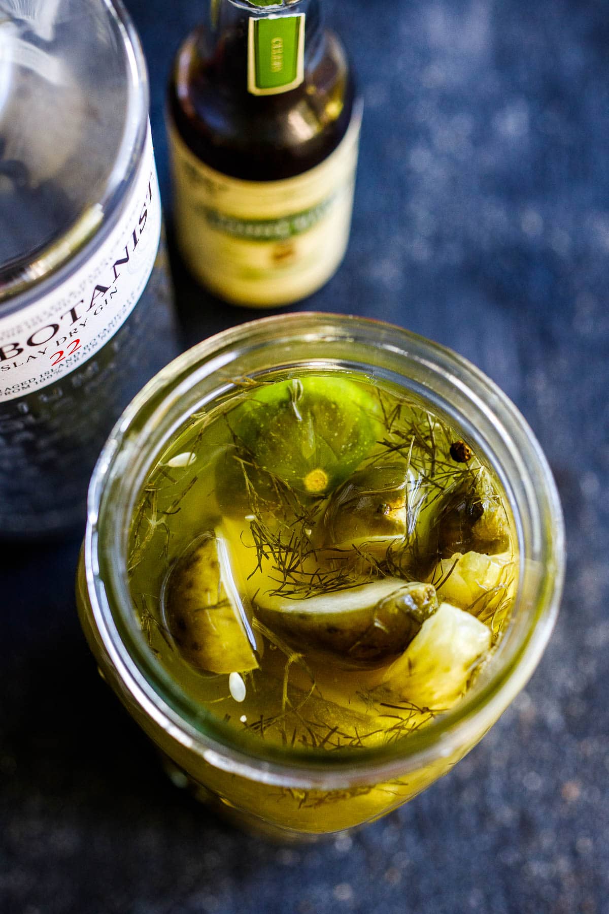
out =
<path fill-rule="evenodd" d="M 174 218 L 194 276 L 230 302 L 272 307 L 330 279 L 349 239 L 361 110 L 320 165 L 242 181 L 201 162 L 172 128 Z"/>

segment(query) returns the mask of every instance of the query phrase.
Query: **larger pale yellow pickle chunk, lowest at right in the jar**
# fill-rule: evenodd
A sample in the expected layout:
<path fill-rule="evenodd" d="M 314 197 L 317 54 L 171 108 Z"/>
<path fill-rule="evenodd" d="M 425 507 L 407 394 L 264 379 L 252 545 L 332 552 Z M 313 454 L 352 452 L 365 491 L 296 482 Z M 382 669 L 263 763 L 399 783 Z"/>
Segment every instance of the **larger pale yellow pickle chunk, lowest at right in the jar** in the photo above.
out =
<path fill-rule="evenodd" d="M 442 603 L 404 654 L 383 675 L 400 701 L 419 708 L 451 707 L 464 694 L 474 667 L 490 647 L 490 630 L 469 612 Z"/>

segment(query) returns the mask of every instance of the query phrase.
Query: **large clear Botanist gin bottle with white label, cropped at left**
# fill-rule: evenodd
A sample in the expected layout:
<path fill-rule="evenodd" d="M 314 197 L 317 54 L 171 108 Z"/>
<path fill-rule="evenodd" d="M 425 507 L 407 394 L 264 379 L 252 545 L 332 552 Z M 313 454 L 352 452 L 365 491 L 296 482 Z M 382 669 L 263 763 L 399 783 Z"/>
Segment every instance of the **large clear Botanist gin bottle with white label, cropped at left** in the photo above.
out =
<path fill-rule="evenodd" d="M 85 519 L 90 472 L 178 352 L 142 48 L 120 3 L 0 0 L 0 530 Z"/>

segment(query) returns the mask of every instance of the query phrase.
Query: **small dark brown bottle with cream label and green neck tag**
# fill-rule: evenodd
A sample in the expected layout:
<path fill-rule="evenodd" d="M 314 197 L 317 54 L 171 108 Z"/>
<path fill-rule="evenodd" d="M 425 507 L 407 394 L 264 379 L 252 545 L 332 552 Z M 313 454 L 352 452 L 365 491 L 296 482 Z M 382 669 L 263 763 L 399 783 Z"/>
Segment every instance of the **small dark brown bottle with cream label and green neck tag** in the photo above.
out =
<path fill-rule="evenodd" d="M 315 292 L 351 228 L 362 107 L 320 0 L 211 0 L 173 68 L 177 242 L 194 276 L 252 307 Z"/>

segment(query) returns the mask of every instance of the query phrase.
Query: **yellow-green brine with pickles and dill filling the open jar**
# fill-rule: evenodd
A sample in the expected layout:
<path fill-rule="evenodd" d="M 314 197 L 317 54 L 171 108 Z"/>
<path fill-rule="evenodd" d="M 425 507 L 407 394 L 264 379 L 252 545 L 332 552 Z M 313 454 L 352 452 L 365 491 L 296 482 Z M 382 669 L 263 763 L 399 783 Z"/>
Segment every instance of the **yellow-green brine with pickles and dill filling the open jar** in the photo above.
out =
<path fill-rule="evenodd" d="M 505 494 L 462 439 L 344 373 L 242 379 L 191 417 L 142 488 L 129 573 L 150 649 L 212 726 L 341 754 L 465 695 L 518 558 Z"/>

